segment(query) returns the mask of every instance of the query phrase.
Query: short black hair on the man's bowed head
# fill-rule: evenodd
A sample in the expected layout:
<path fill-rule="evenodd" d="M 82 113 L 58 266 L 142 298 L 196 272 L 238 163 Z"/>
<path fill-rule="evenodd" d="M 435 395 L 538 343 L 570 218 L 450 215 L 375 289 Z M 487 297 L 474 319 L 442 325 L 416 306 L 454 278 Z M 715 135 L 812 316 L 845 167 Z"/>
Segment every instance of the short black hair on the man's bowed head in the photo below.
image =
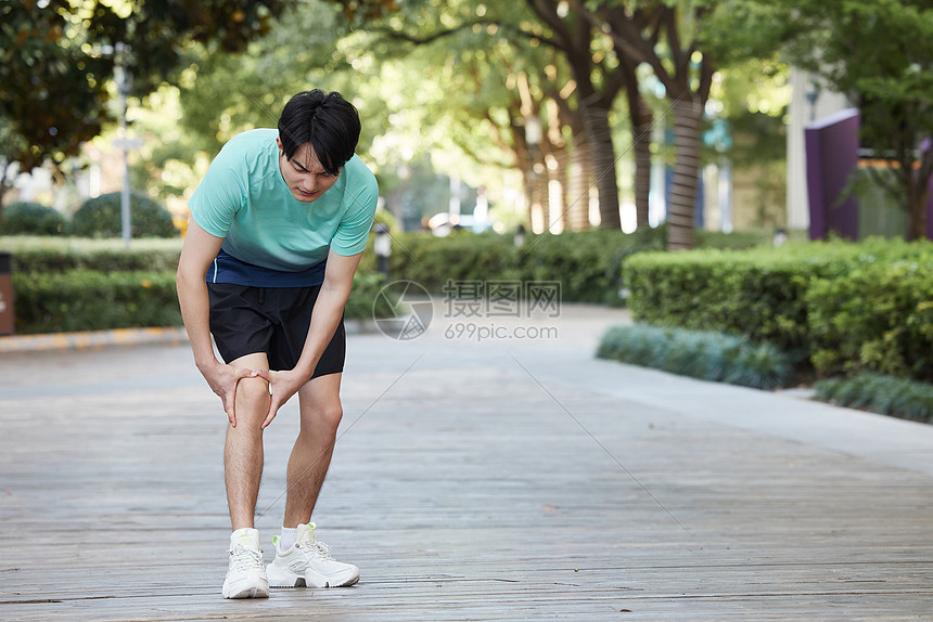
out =
<path fill-rule="evenodd" d="M 292 159 L 298 146 L 310 143 L 321 166 L 334 176 L 353 157 L 359 131 L 359 114 L 336 91 L 302 91 L 289 100 L 279 118 L 285 157 Z"/>

